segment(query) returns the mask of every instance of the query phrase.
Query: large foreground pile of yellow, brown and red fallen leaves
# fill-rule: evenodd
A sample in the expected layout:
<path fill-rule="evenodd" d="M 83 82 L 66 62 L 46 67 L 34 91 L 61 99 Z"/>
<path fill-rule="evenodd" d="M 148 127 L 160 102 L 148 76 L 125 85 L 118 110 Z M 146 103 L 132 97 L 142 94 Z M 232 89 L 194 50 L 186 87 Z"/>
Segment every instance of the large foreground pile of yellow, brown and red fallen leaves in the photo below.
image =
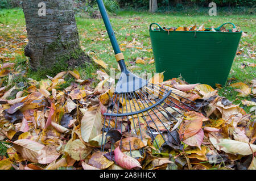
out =
<path fill-rule="evenodd" d="M 58 89 L 67 74 L 76 82 Z M 0 169 L 255 169 L 255 115 L 218 96 L 209 85 L 188 85 L 180 79 L 163 82 L 163 74 L 157 76 L 160 79 L 153 77 L 159 86 L 195 102 L 172 94 L 175 104 L 185 110 L 179 110 L 185 117 L 170 111 L 172 115 L 166 115 L 174 125 L 161 117 L 163 127 L 156 117 L 156 124 L 148 120 L 147 125 L 138 115 L 133 124 L 127 117 L 122 128 L 113 130 L 106 127 L 115 127 L 117 120 L 105 123 L 104 113 L 113 106 L 125 107 L 124 100 L 115 97 L 119 104 L 112 105 L 114 79 L 104 71 L 98 70 L 97 74 L 100 83 L 95 89 L 92 79 L 81 80 L 77 71 L 64 71 L 39 82 L 30 79 L 28 89 L 16 92 L 16 99 L 6 100 L 15 86 L 2 92 L 0 140 L 8 148 L 8 157 L 0 161 Z M 245 88 L 237 90 L 248 94 Z M 137 101 L 140 104 L 141 100 Z M 179 108 L 170 104 L 174 110 Z"/>

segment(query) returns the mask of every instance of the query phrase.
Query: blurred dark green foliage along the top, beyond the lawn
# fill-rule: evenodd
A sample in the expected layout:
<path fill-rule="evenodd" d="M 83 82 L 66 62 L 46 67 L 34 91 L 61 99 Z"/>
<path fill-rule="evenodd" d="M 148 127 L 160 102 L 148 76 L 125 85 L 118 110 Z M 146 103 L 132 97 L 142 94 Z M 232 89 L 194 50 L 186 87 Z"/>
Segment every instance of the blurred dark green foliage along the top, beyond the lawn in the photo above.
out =
<path fill-rule="evenodd" d="M 118 10 L 149 9 L 149 0 L 103 0 L 110 13 Z M 185 14 L 204 14 L 209 3 L 215 2 L 220 12 L 228 14 L 255 14 L 256 0 L 158 0 L 157 12 L 181 12 Z M 100 18 L 96 0 L 74 0 L 77 15 Z M 21 0 L 0 0 L 0 9 L 22 7 Z"/>

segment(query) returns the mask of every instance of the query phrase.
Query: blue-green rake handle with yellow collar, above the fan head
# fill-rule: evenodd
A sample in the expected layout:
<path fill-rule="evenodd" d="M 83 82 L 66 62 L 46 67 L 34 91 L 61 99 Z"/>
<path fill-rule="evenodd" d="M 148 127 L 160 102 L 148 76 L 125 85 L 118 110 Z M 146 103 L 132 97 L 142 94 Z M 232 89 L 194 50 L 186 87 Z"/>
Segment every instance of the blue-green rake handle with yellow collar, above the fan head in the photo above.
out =
<path fill-rule="evenodd" d="M 123 57 L 123 54 L 119 48 L 119 44 L 117 42 L 117 38 L 115 37 L 115 33 L 114 33 L 112 25 L 110 23 L 109 16 L 108 16 L 108 13 L 106 12 L 104 3 L 102 0 L 97 0 L 97 3 L 98 3 L 98 8 L 100 9 L 101 16 L 104 21 L 106 30 L 108 31 L 109 39 L 111 41 L 112 47 L 115 52 L 115 58 L 118 61 L 121 71 L 125 71 L 125 70 L 127 70 L 126 65 L 125 65 L 125 60 L 124 60 L 125 58 Z"/>

